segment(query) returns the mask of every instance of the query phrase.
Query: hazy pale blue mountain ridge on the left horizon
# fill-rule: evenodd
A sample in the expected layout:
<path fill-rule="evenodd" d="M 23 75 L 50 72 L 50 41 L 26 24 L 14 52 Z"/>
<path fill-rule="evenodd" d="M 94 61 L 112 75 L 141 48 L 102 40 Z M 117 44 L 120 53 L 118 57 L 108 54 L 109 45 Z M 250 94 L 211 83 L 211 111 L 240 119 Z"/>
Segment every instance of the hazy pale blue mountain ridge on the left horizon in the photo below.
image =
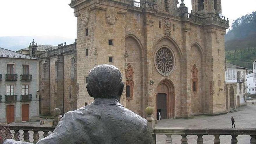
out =
<path fill-rule="evenodd" d="M 0 37 L 0 47 L 17 51 L 29 47 L 29 43 L 34 39 L 38 45 L 58 45 L 60 43 L 67 42 L 72 44 L 75 42 L 75 38 L 64 38 L 59 36 L 6 36 Z"/>

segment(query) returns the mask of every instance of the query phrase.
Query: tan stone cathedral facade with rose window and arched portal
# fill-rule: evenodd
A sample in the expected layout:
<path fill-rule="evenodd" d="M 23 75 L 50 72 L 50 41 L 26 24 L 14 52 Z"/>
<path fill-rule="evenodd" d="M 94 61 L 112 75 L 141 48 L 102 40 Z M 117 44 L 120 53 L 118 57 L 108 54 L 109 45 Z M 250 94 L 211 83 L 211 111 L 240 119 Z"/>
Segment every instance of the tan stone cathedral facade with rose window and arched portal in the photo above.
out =
<path fill-rule="evenodd" d="M 226 113 L 221 0 L 71 0 L 77 17 L 77 107 L 93 102 L 87 75 L 99 64 L 123 74 L 121 103 L 145 117 Z"/>

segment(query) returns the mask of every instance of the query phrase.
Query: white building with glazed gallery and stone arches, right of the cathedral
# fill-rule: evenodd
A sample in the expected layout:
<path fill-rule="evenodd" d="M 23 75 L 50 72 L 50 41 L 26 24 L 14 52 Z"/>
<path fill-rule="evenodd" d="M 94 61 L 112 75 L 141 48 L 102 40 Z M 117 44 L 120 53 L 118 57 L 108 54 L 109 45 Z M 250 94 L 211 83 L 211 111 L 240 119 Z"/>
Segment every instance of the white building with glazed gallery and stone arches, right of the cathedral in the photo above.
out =
<path fill-rule="evenodd" d="M 226 108 L 236 109 L 246 104 L 246 72 L 247 68 L 226 63 Z"/>

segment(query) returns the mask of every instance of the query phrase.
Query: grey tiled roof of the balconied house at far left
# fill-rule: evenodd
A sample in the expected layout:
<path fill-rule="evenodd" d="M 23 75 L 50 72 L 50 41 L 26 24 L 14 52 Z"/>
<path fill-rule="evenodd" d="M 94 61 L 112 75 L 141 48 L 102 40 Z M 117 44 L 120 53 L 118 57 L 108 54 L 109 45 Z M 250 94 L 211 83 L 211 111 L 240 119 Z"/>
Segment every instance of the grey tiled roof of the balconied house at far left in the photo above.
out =
<path fill-rule="evenodd" d="M 38 58 L 34 58 L 32 56 L 27 56 L 24 54 L 17 53 L 15 51 L 11 51 L 8 49 L 4 49 L 0 47 L 0 58 L 22 58 L 22 59 L 33 59 L 39 60 Z"/>

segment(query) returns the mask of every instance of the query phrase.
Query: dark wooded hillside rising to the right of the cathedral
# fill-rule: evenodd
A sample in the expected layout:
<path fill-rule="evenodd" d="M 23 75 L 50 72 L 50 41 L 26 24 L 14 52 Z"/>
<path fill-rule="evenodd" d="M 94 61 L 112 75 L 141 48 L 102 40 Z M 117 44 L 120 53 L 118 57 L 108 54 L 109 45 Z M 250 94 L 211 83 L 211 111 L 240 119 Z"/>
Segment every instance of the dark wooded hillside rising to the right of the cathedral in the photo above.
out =
<path fill-rule="evenodd" d="M 256 12 L 233 21 L 232 30 L 225 35 L 225 52 L 228 62 L 252 69 L 256 60 Z"/>

